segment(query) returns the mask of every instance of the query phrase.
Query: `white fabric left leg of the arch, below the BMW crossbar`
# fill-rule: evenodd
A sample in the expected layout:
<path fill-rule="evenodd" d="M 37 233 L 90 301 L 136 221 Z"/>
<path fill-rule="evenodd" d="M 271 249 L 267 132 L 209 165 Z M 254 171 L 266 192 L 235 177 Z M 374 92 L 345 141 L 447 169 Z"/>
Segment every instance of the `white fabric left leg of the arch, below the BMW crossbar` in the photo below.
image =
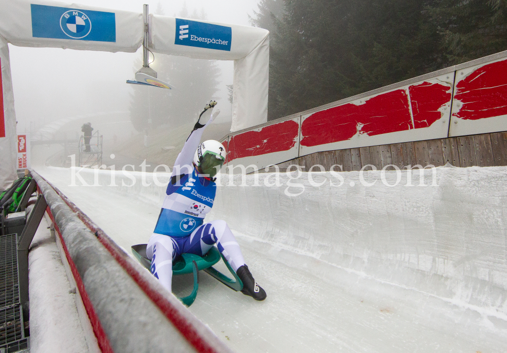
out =
<path fill-rule="evenodd" d="M 7 189 L 17 179 L 17 135 L 12 93 L 11 64 L 7 41 L 0 37 L 0 62 L 2 64 L 2 88 L 4 93 L 5 136 L 0 137 L 0 189 Z"/>

